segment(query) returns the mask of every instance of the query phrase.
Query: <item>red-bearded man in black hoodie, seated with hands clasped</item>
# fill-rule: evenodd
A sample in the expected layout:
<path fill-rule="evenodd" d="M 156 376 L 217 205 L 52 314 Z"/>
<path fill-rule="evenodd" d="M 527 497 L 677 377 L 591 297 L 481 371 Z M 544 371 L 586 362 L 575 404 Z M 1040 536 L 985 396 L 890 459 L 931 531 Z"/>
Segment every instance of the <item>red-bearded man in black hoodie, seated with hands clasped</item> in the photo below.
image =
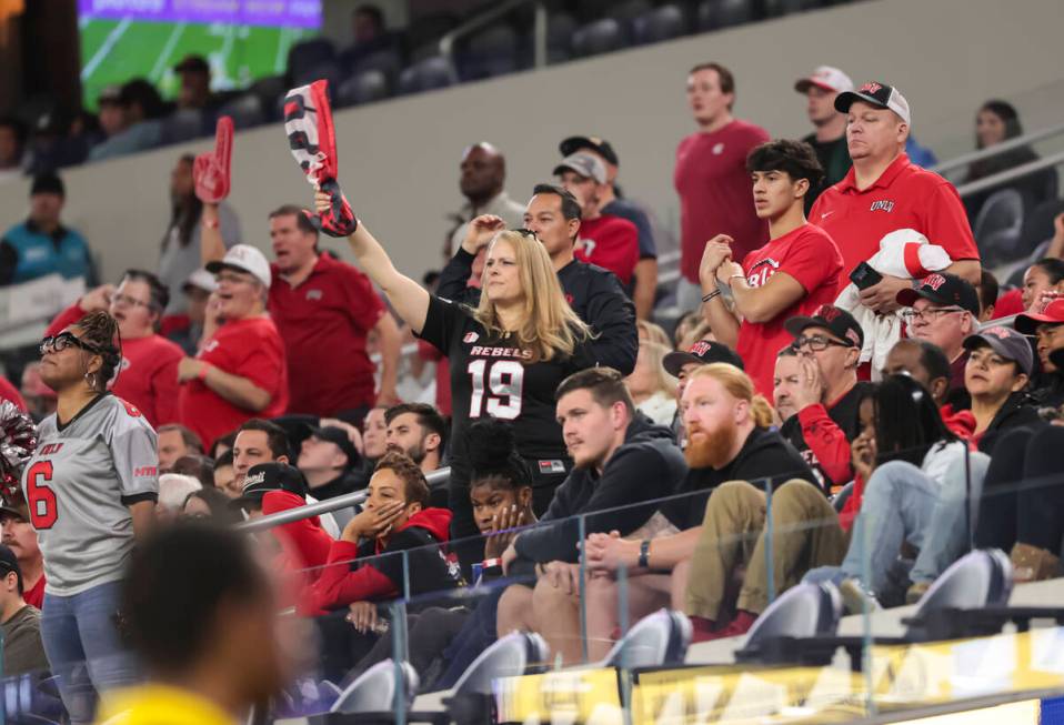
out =
<path fill-rule="evenodd" d="M 714 632 L 720 630 L 717 613 L 732 571 L 742 563 L 744 551 L 751 548 L 747 543 L 764 526 L 762 490 L 779 487 L 782 492 L 801 485 L 806 493 L 819 496 L 829 510 L 831 505 L 815 486 L 816 479 L 799 452 L 769 427 L 769 403 L 754 394 L 753 382 L 743 371 L 726 363 L 692 371 L 681 407 L 687 430 L 684 457 L 690 471 L 677 493 L 687 495 L 659 507 L 679 533 L 642 541 L 620 538 L 614 533 L 592 534 L 585 543 L 588 565 L 593 573 L 603 574 L 620 566 L 629 570 L 631 621 L 661 606 L 672 606 L 694 617 L 697 637 L 710 638 L 711 632 L 724 636 Z M 775 517 L 780 512 L 775 503 L 779 495 L 773 495 Z M 789 512 L 787 518 L 797 517 L 799 513 Z M 739 525 L 725 523 L 740 518 Z M 755 558 L 749 560 L 750 567 L 763 568 L 764 556 Z M 610 576 L 589 580 L 588 601 L 598 605 L 589 612 L 589 622 L 615 616 L 615 586 Z M 756 612 L 764 608 L 754 596 L 750 598 L 749 607 L 760 607 Z M 744 604 L 741 600 L 740 607 Z M 742 611 L 733 624 L 745 632 L 754 618 L 755 613 Z"/>

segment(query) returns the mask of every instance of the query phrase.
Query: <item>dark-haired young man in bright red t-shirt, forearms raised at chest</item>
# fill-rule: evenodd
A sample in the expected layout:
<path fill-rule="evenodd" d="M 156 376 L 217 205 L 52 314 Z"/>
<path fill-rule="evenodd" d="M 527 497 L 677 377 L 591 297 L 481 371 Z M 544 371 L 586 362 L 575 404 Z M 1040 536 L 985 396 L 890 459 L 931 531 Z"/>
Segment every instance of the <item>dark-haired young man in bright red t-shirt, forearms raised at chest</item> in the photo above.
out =
<path fill-rule="evenodd" d="M 699 270 L 702 312 L 714 336 L 739 352 L 757 392 L 771 400 L 776 354 L 791 344 L 783 323 L 835 301 L 842 255 L 826 232 L 805 221 L 805 194 L 823 173 L 807 143 L 764 143 L 750 152 L 746 169 L 753 205 L 767 220 L 771 239 L 742 265 L 730 234 L 706 242 Z M 723 302 L 722 286 L 731 289 L 734 312 Z"/>

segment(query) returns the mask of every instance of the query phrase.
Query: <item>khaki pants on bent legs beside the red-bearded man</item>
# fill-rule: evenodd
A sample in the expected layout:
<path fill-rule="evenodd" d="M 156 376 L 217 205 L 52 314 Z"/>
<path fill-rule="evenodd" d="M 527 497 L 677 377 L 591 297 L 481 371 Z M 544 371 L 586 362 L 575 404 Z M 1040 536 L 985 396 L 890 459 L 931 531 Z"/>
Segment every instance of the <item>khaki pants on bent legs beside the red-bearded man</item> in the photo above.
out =
<path fill-rule="evenodd" d="M 746 565 L 740 610 L 769 606 L 765 566 L 765 494 L 745 481 L 729 481 L 705 506 L 702 535 L 691 560 L 686 613 L 716 621 L 725 585 Z M 806 481 L 789 481 L 772 495 L 772 571 L 776 593 L 797 584 L 814 566 L 835 566 L 846 553 L 846 535 L 824 494 Z"/>

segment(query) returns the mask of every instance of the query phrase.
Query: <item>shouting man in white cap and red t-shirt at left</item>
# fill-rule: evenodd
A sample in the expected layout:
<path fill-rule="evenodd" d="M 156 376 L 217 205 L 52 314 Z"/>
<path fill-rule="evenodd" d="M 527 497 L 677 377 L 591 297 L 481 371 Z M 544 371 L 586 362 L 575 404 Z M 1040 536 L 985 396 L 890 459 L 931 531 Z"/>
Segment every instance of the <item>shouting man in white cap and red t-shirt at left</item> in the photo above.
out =
<path fill-rule="evenodd" d="M 195 358 L 178 365 L 181 423 L 204 445 L 250 417 L 277 417 L 288 407 L 284 343 L 265 312 L 270 263 L 254 246 L 237 244 L 207 265 L 218 282 Z M 225 324 L 218 326 L 218 321 Z"/>

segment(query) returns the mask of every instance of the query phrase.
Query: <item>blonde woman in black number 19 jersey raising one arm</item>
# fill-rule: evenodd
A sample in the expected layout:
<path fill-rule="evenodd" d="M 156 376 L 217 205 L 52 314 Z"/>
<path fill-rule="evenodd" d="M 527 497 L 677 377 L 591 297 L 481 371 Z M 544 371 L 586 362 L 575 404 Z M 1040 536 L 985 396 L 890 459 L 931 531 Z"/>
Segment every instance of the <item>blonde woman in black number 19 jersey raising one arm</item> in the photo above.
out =
<path fill-rule="evenodd" d="M 320 212 L 329 209 L 328 194 L 319 192 L 315 202 Z M 430 294 L 398 272 L 363 224 L 348 241 L 399 316 L 450 361 L 453 537 L 479 533 L 470 504 L 466 430 L 480 417 L 513 422 L 518 452 L 534 474 L 532 507 L 541 515 L 572 465 L 555 419 L 554 391 L 571 373 L 596 363 L 592 333 L 565 301 L 543 244 L 528 230 L 495 231 L 473 309 Z M 460 552 L 463 561 L 481 556 L 472 548 Z"/>

